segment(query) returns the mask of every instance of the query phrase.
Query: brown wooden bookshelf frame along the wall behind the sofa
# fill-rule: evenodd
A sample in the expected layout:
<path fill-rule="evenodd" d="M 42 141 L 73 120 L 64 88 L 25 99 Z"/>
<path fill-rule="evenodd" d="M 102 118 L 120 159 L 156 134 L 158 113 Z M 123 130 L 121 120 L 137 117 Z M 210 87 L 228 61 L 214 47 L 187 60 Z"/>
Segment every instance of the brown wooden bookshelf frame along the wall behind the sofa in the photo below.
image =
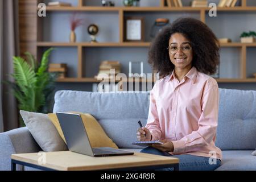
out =
<path fill-rule="evenodd" d="M 20 0 L 20 10 L 26 9 L 26 7 L 35 7 L 37 8 L 37 5 L 41 1 L 25 1 Z M 256 11 L 256 6 L 246 6 L 246 0 L 242 0 L 241 6 L 236 7 L 217 7 L 217 11 L 221 12 L 250 12 L 250 11 Z M 82 70 L 84 67 L 82 63 L 85 63 L 82 52 L 83 47 L 149 47 L 150 42 L 125 42 L 123 40 L 123 32 L 124 32 L 124 17 L 125 13 L 143 13 L 143 12 L 192 12 L 192 13 L 199 13 L 200 19 L 202 22 L 205 22 L 205 16 L 210 10 L 209 7 L 189 7 L 189 6 L 183 6 L 183 7 L 165 7 L 164 0 L 160 0 L 159 7 L 101 7 L 101 6 L 86 6 L 82 0 L 78 0 L 78 5 L 76 7 L 46 7 L 47 11 L 50 12 L 59 12 L 59 11 L 94 11 L 94 12 L 116 12 L 118 14 L 118 24 L 119 24 L 119 42 L 105 42 L 105 43 L 89 43 L 89 42 L 76 42 L 76 43 L 69 43 L 69 42 L 43 42 L 42 40 L 42 20 L 37 16 L 37 23 L 33 27 L 23 27 L 22 31 L 23 34 L 27 32 L 37 32 L 37 40 L 22 42 L 20 45 L 22 47 L 26 47 L 26 51 L 30 51 L 32 53 L 35 52 L 35 55 L 40 57 L 42 55 L 41 50 L 44 47 L 72 47 L 77 48 L 77 77 L 75 78 L 63 78 L 57 80 L 57 82 L 100 82 L 96 80 L 95 78 L 90 77 L 82 77 L 82 75 L 85 75 L 85 71 Z M 24 7 L 23 7 L 24 6 Z M 30 8 L 31 9 L 31 8 Z M 24 12 L 23 14 L 25 14 Z M 29 13 L 31 16 L 31 13 Z M 36 16 L 36 15 L 35 15 Z M 25 17 L 23 15 L 23 17 Z M 30 19 L 27 20 L 29 22 Z M 26 21 L 23 23 L 26 23 Z M 216 79 L 217 82 L 223 82 L 223 83 L 235 83 L 235 82 L 256 82 L 256 79 L 254 78 L 247 78 L 246 77 L 246 49 L 247 47 L 256 47 L 256 43 L 239 43 L 239 42 L 232 42 L 232 43 L 221 43 L 221 47 L 237 47 L 241 48 L 241 60 L 240 60 L 240 72 L 241 76 L 240 78 L 220 78 Z M 131 79 L 126 80 L 128 82 L 133 81 Z M 151 82 L 147 81 L 147 82 Z M 133 81 L 134 82 L 134 81 Z M 140 80 L 139 82 L 143 82 Z"/>

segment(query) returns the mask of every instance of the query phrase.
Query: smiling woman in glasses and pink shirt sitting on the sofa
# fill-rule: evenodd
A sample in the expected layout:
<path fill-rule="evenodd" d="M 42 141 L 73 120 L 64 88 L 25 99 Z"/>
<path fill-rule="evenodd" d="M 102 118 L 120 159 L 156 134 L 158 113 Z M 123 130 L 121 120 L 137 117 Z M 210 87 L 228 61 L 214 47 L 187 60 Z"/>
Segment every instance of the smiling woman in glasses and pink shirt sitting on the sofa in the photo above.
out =
<path fill-rule="evenodd" d="M 150 93 L 141 141 L 160 140 L 141 152 L 180 159 L 180 170 L 214 170 L 221 164 L 216 147 L 219 45 L 200 20 L 177 19 L 151 45 L 149 63 L 160 77 Z M 165 168 L 166 169 L 166 168 Z M 171 169 L 170 169 L 171 170 Z"/>

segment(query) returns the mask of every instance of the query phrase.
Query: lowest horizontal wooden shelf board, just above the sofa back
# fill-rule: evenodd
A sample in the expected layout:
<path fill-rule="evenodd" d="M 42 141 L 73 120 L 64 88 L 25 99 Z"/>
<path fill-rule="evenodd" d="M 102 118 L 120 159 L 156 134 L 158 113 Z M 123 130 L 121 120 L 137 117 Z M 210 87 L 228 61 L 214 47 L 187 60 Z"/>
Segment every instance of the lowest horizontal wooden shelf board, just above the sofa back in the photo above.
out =
<path fill-rule="evenodd" d="M 108 82 L 105 79 L 106 82 Z M 154 80 L 142 80 L 140 78 L 139 81 L 134 81 L 134 78 L 128 78 L 128 80 L 123 80 L 124 82 L 154 82 Z M 217 82 L 223 83 L 240 83 L 240 82 L 256 82 L 255 78 L 218 78 L 216 79 Z M 60 78 L 57 82 L 101 82 L 101 80 L 97 80 L 96 78 Z M 119 82 L 119 80 L 115 80 L 115 82 Z"/>

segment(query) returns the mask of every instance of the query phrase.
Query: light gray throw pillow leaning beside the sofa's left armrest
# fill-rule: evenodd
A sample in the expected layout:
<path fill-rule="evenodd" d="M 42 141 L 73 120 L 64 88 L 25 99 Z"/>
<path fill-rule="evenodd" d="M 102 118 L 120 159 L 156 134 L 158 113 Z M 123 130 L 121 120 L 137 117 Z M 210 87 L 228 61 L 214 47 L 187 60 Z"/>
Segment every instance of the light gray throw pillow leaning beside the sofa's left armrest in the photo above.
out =
<path fill-rule="evenodd" d="M 47 114 L 20 110 L 25 125 L 43 151 L 68 150 Z"/>

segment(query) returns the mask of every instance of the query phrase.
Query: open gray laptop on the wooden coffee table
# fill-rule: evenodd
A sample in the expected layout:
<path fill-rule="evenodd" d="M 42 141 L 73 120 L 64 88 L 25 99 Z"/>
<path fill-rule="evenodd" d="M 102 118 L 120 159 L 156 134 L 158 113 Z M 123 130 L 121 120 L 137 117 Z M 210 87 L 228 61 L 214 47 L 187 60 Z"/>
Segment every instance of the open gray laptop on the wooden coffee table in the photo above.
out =
<path fill-rule="evenodd" d="M 89 156 L 133 155 L 134 152 L 112 147 L 92 148 L 80 114 L 56 112 L 68 149 Z M 85 121 L 86 122 L 86 121 Z"/>

